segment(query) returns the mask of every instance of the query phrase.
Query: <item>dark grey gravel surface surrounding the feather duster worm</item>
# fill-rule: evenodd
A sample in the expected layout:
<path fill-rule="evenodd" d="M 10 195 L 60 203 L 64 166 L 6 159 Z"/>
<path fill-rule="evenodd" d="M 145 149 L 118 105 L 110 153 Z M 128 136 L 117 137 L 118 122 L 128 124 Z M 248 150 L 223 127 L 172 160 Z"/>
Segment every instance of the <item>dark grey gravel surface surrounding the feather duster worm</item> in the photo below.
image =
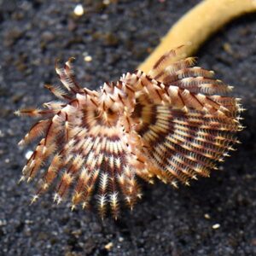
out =
<path fill-rule="evenodd" d="M 28 206 L 34 186 L 17 181 L 31 148 L 16 143 L 32 120 L 13 111 L 52 99 L 43 85 L 57 83 L 55 59 L 76 57 L 79 81 L 96 88 L 137 67 L 200 1 L 80 2 L 78 18 L 79 1 L 0 0 L 0 255 L 256 255 L 256 15 L 232 22 L 198 53 L 247 108 L 242 144 L 221 171 L 189 188 L 143 184 L 143 200 L 117 222 L 55 206 L 50 194 Z"/>

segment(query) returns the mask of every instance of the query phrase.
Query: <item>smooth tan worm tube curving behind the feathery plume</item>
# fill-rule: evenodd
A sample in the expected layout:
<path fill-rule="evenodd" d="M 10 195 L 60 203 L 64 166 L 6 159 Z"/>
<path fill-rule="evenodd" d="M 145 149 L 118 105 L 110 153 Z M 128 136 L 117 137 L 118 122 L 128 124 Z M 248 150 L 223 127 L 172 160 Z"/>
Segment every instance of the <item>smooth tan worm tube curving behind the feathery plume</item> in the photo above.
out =
<path fill-rule="evenodd" d="M 148 72 L 161 55 L 182 44 L 185 45 L 180 50 L 181 55 L 192 55 L 224 24 L 254 11 L 256 0 L 204 0 L 172 26 L 159 46 L 138 68 Z"/>

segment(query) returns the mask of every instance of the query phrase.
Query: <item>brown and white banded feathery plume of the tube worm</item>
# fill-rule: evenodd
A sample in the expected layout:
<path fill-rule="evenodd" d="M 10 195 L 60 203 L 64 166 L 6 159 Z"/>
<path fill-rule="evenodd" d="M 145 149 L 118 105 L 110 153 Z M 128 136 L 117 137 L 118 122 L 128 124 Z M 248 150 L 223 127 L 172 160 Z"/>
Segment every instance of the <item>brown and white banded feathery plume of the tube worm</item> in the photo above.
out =
<path fill-rule="evenodd" d="M 56 183 L 58 203 L 73 189 L 73 207 L 96 200 L 102 217 L 110 209 L 117 218 L 121 201 L 132 208 L 142 195 L 137 177 L 177 187 L 217 168 L 238 142 L 239 99 L 226 96 L 232 88 L 194 58 L 173 62 L 177 52 L 148 74 L 126 73 L 100 90 L 79 86 L 72 59 L 56 65 L 64 88 L 46 88 L 58 101 L 16 112 L 39 119 L 20 141 L 39 141 L 21 177 L 30 181 L 44 169 L 32 201 Z"/>

